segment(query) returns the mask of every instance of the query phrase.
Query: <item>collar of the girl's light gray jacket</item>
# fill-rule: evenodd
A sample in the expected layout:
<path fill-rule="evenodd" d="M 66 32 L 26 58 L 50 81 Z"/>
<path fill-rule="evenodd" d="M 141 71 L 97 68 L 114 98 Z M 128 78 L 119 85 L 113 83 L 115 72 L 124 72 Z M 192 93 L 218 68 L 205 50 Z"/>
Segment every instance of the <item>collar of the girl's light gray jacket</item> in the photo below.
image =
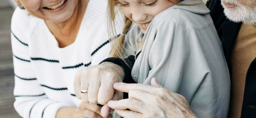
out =
<path fill-rule="evenodd" d="M 203 2 L 202 0 L 183 0 L 178 4 L 192 5 L 192 4 L 202 3 L 202 2 Z M 210 10 L 205 6 L 204 3 L 199 5 L 192 5 L 192 6 L 174 5 L 168 9 L 181 9 L 181 10 L 186 10 L 186 11 L 198 13 L 198 14 L 208 14 L 210 12 Z"/>

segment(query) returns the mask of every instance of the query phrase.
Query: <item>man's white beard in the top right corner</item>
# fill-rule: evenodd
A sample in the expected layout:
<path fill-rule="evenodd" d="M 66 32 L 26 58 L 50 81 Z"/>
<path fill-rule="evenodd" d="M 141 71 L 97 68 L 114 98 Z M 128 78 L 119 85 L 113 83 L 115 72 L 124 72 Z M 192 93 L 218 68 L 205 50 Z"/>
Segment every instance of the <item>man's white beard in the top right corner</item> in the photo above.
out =
<path fill-rule="evenodd" d="M 224 7 L 223 2 L 237 5 L 234 10 L 229 10 Z M 222 0 L 225 16 L 233 22 L 243 22 L 245 24 L 256 24 L 256 5 L 253 8 L 245 8 L 239 2 L 234 0 Z"/>

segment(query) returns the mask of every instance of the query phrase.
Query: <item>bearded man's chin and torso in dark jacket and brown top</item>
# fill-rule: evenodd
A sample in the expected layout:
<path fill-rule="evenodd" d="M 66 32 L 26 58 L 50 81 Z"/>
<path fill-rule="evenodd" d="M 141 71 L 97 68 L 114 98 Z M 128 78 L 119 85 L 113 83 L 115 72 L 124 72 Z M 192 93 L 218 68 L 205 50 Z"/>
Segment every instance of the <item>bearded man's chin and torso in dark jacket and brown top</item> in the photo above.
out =
<path fill-rule="evenodd" d="M 211 0 L 207 6 L 230 72 L 228 117 L 256 118 L 256 0 Z"/>

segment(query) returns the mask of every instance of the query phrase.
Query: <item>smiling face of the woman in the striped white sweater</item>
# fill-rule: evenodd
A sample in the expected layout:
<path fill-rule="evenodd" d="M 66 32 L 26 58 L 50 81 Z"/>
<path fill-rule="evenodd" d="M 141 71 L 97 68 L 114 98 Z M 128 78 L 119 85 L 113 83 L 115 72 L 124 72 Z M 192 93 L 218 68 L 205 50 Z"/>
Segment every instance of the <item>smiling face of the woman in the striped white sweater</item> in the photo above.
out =
<path fill-rule="evenodd" d="M 53 22 L 63 22 L 70 18 L 78 0 L 14 0 L 38 18 Z"/>

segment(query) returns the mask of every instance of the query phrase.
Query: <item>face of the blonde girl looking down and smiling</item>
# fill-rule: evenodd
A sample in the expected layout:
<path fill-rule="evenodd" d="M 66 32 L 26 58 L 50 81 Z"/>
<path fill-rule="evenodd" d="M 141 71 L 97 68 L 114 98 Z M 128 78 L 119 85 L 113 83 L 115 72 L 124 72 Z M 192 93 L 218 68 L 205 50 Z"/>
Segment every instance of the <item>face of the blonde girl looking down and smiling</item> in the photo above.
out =
<path fill-rule="evenodd" d="M 124 15 L 135 22 L 143 33 L 157 14 L 177 3 L 175 0 L 174 3 L 168 0 L 118 0 L 118 2 Z"/>

